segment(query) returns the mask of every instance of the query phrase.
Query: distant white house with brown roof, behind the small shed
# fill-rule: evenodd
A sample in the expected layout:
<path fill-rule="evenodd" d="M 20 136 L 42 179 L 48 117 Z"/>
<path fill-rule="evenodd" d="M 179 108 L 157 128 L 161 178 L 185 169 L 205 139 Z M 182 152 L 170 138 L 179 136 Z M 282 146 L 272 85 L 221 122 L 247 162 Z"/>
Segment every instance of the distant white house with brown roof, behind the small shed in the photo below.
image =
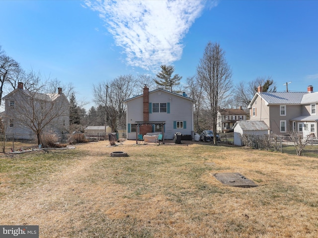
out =
<path fill-rule="evenodd" d="M 217 119 L 217 132 L 227 132 L 233 128 L 238 120 L 247 120 L 248 113 L 242 108 L 239 109 L 219 109 Z"/>

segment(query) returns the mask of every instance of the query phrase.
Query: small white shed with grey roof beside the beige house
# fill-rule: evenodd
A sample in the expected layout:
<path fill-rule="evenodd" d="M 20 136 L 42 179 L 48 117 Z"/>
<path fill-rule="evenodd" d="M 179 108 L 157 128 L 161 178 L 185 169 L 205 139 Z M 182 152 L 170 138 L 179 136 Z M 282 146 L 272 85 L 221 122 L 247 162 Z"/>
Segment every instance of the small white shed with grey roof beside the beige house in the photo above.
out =
<path fill-rule="evenodd" d="M 268 135 L 269 127 L 262 120 L 238 120 L 234 126 L 234 145 L 243 146 L 242 135 Z"/>

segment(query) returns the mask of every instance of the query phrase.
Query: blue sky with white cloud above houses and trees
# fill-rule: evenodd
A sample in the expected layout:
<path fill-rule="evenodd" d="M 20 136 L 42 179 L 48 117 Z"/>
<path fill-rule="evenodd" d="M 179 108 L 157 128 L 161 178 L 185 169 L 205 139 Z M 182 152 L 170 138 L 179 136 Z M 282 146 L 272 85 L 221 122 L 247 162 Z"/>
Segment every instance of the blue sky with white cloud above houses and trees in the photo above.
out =
<path fill-rule="evenodd" d="M 25 70 L 92 85 L 173 64 L 187 77 L 209 41 L 234 84 L 271 76 L 277 91 L 318 91 L 318 0 L 1 0 L 0 45 Z M 89 103 L 87 108 L 92 106 Z"/>

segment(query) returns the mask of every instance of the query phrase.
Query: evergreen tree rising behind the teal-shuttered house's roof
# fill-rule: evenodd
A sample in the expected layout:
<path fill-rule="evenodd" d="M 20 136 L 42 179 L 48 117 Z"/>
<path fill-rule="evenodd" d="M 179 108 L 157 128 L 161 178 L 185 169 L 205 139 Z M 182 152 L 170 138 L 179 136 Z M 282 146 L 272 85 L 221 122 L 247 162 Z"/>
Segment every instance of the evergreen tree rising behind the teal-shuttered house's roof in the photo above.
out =
<path fill-rule="evenodd" d="M 163 89 L 167 91 L 179 93 L 180 91 L 174 90 L 174 86 L 180 84 L 182 76 L 174 74 L 172 77 L 172 73 L 174 72 L 174 66 L 172 65 L 161 65 L 160 67 L 161 71 L 156 74 L 159 80 L 155 79 L 155 83 L 159 86 L 163 86 Z"/>

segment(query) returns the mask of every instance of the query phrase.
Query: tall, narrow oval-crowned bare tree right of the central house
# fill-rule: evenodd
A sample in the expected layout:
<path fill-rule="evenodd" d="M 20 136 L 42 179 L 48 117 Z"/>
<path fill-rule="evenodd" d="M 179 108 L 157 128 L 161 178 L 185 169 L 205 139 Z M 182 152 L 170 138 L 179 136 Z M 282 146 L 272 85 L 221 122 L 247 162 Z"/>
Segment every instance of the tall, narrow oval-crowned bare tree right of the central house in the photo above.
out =
<path fill-rule="evenodd" d="M 209 42 L 197 67 L 198 81 L 204 92 L 204 103 L 216 134 L 218 107 L 226 100 L 232 88 L 232 70 L 225 59 L 225 51 L 218 43 Z M 214 136 L 214 144 L 217 137 Z"/>

